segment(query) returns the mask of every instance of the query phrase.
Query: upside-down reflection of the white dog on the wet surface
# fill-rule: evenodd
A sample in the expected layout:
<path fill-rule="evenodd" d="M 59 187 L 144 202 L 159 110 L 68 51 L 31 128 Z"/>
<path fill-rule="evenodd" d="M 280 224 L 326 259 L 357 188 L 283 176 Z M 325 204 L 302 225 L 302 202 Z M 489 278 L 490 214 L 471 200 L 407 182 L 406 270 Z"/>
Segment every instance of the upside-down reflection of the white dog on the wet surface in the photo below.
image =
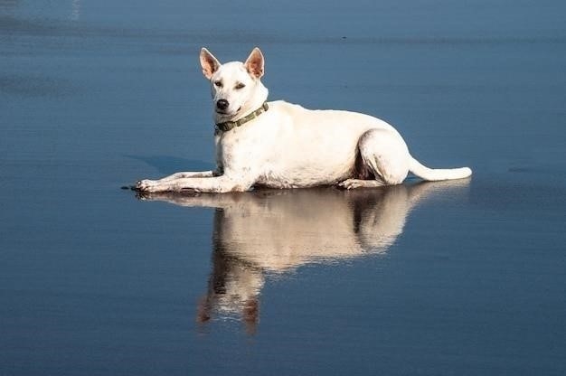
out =
<path fill-rule="evenodd" d="M 425 196 L 455 182 L 396 185 L 376 190 L 335 188 L 143 198 L 212 207 L 212 273 L 197 319 L 237 316 L 255 330 L 265 274 L 313 262 L 387 251 L 407 214 Z M 464 182 L 459 185 L 465 184 Z"/>

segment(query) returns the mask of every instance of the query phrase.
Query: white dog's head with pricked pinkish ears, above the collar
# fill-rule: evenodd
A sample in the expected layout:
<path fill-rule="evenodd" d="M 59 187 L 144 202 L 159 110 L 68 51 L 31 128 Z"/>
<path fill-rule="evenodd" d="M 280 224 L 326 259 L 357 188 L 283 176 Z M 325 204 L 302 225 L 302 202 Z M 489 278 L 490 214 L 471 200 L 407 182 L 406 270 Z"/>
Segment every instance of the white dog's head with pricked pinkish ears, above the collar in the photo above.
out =
<path fill-rule="evenodd" d="M 254 48 L 245 62 L 221 64 L 211 52 L 201 50 L 203 74 L 211 81 L 215 117 L 236 119 L 255 110 L 267 99 L 267 89 L 261 84 L 264 59 Z"/>

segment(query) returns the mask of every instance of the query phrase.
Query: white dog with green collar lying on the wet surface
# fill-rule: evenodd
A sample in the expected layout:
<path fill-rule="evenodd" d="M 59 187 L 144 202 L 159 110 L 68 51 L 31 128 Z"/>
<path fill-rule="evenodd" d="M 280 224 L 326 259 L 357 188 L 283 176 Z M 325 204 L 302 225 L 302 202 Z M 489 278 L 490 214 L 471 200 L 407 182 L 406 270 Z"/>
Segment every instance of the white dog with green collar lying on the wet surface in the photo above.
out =
<path fill-rule="evenodd" d="M 268 103 L 258 48 L 243 63 L 221 64 L 204 48 L 200 58 L 212 83 L 217 169 L 142 180 L 136 184 L 139 191 L 225 193 L 332 184 L 352 189 L 399 184 L 409 172 L 429 181 L 472 174 L 467 167 L 425 167 L 410 155 L 401 135 L 378 118 Z"/>

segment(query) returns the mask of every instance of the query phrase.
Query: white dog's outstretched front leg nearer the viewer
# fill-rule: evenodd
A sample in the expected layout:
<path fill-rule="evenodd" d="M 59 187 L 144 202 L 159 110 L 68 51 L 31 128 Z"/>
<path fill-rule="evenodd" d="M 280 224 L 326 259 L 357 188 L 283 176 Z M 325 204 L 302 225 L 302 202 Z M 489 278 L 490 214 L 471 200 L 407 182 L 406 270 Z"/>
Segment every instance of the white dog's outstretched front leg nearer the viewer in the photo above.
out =
<path fill-rule="evenodd" d="M 152 181 L 150 184 L 141 181 L 137 190 L 141 192 L 203 192 L 226 193 L 248 191 L 255 183 L 250 179 L 237 179 L 229 175 L 213 177 L 186 177 L 170 181 Z"/>

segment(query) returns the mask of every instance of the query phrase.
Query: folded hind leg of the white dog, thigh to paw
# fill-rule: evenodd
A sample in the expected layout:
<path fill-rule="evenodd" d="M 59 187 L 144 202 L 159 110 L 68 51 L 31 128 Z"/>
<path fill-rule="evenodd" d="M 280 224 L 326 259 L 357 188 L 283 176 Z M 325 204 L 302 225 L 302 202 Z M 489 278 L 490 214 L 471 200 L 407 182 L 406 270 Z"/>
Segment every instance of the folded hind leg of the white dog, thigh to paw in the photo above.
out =
<path fill-rule="evenodd" d="M 374 179 L 348 179 L 339 184 L 341 187 L 354 189 L 400 184 L 409 174 L 409 150 L 397 133 L 371 129 L 360 137 L 358 150 L 363 167 L 373 174 Z"/>

